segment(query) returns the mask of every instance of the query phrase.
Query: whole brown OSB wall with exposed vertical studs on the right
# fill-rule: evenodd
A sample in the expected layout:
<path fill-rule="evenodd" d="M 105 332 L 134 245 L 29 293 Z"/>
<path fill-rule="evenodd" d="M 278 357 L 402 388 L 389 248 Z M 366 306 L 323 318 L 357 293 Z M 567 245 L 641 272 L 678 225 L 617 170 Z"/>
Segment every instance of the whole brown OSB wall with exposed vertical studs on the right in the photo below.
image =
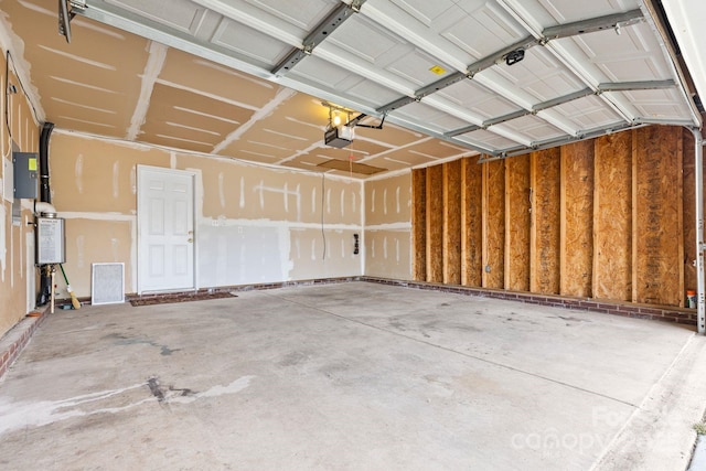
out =
<path fill-rule="evenodd" d="M 482 164 L 466 159 L 456 213 L 438 204 L 457 201 L 451 165 L 417 171 L 413 202 L 424 208 L 413 207 L 413 233 L 425 257 L 414 254 L 415 279 L 683 307 L 695 283 L 693 159 L 691 131 L 664 126 Z M 448 267 L 439 265 L 450 259 L 457 218 L 460 282 L 441 278 Z"/>

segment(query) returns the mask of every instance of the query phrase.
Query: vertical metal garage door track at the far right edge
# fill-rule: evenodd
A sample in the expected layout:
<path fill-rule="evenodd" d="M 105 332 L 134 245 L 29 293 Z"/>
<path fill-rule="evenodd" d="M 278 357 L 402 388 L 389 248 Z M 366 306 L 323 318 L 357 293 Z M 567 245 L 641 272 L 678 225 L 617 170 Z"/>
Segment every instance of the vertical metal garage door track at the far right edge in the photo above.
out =
<path fill-rule="evenodd" d="M 702 130 L 692 128 L 696 142 L 696 327 L 698 333 L 706 333 L 706 298 L 704 297 L 704 138 Z"/>

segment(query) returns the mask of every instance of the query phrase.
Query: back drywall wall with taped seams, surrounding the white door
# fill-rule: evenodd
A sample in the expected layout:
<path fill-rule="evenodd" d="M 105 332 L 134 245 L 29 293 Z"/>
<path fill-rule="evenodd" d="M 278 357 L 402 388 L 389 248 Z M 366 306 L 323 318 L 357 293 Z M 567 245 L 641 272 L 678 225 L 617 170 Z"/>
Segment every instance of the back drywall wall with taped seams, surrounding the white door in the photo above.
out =
<path fill-rule="evenodd" d="M 195 175 L 197 288 L 362 275 L 362 254 L 353 254 L 353 234 L 363 232 L 357 180 L 62 130 L 50 156 L 54 204 L 71 235 L 66 269 L 79 297 L 90 293 L 93 263 L 125 263 L 126 290 L 139 290 L 138 164 Z"/>

